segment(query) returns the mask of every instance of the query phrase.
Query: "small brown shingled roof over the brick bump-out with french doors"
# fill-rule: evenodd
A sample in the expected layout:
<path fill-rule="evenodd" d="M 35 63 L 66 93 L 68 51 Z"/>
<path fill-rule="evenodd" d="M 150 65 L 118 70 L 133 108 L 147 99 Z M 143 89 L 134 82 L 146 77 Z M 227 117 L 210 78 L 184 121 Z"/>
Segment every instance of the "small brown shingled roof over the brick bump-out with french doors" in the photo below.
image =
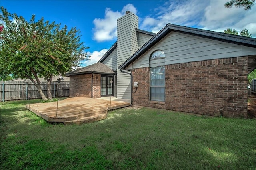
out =
<path fill-rule="evenodd" d="M 70 75 L 90 74 L 90 73 L 109 74 L 109 75 L 116 74 L 112 69 L 107 67 L 105 64 L 95 63 L 95 64 L 92 64 L 92 65 L 88 65 L 86 67 L 76 69 L 74 71 L 70 71 L 70 72 L 66 73 L 65 75 L 70 76 Z"/>

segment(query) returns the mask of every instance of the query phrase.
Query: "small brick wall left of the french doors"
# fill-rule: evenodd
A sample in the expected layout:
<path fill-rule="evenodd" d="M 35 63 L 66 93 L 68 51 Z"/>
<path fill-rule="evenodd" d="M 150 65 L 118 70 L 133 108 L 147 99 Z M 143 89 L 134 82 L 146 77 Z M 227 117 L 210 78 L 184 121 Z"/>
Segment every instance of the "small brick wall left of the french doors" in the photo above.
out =
<path fill-rule="evenodd" d="M 70 75 L 70 97 L 100 98 L 100 74 Z"/>

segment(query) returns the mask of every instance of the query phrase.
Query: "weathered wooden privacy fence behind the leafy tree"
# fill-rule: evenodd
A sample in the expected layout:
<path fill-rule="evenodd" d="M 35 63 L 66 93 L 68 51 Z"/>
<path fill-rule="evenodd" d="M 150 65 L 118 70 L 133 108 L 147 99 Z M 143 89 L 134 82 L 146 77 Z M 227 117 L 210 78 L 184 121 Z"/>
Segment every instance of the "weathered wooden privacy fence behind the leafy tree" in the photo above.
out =
<path fill-rule="evenodd" d="M 1 81 L 0 83 L 0 101 L 8 100 L 22 100 L 22 99 L 40 99 L 41 96 L 37 87 L 32 82 L 26 81 Z M 44 95 L 47 97 L 47 82 L 41 82 L 41 88 Z M 51 83 L 52 97 L 68 97 L 69 96 L 69 82 L 61 81 L 59 85 L 58 95 L 58 83 Z M 57 96 L 58 95 L 58 96 Z"/>

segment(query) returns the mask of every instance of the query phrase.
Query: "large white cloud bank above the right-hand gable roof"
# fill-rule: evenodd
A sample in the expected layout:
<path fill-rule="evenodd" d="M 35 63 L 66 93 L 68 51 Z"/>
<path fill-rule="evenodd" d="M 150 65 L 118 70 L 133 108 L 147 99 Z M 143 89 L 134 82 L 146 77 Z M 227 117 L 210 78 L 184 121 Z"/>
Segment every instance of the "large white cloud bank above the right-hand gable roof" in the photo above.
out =
<path fill-rule="evenodd" d="M 157 7 L 155 13 L 146 16 L 141 29 L 157 33 L 166 24 L 177 24 L 223 32 L 232 28 L 240 32 L 243 28 L 256 37 L 256 6 L 252 10 L 225 8 L 226 1 L 167 1 Z"/>

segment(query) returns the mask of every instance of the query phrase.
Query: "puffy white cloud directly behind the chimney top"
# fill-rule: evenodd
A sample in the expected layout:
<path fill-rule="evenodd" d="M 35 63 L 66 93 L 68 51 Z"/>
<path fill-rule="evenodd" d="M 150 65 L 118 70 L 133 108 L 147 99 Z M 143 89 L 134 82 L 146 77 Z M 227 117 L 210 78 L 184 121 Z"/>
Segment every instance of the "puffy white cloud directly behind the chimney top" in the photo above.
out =
<path fill-rule="evenodd" d="M 126 11 L 137 13 L 136 8 L 132 4 L 127 4 L 123 7 L 122 11 L 112 11 L 106 8 L 104 18 L 95 18 L 94 24 L 94 40 L 103 42 L 106 40 L 113 40 L 117 36 L 117 22 L 116 20 L 125 15 Z"/>

